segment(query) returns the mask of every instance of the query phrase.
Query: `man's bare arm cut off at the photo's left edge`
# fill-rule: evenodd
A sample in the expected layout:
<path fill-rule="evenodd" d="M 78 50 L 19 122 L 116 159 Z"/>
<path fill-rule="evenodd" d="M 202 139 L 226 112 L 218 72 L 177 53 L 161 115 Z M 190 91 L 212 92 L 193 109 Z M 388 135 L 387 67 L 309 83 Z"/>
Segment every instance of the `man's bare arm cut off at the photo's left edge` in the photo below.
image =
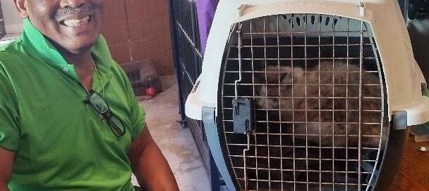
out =
<path fill-rule="evenodd" d="M 11 178 L 15 153 L 0 147 L 0 191 L 9 191 L 8 182 Z"/>

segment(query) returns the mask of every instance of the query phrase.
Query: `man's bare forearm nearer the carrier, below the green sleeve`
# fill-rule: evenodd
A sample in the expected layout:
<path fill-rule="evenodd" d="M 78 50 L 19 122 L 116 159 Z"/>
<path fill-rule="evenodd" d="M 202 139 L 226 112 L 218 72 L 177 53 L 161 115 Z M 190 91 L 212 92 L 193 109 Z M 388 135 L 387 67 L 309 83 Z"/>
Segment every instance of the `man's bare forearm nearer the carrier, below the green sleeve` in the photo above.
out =
<path fill-rule="evenodd" d="M 150 191 L 179 190 L 170 166 L 150 135 L 147 126 L 131 143 L 128 157 L 141 187 Z"/>

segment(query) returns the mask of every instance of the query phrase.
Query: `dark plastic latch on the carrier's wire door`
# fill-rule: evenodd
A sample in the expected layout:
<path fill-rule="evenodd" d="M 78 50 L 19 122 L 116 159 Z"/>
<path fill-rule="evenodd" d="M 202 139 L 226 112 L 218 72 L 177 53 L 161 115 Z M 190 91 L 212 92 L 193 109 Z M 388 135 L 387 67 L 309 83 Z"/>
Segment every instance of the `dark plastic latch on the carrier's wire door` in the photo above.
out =
<path fill-rule="evenodd" d="M 234 133 L 248 133 L 252 131 L 252 105 L 251 99 L 234 99 L 232 100 Z"/>

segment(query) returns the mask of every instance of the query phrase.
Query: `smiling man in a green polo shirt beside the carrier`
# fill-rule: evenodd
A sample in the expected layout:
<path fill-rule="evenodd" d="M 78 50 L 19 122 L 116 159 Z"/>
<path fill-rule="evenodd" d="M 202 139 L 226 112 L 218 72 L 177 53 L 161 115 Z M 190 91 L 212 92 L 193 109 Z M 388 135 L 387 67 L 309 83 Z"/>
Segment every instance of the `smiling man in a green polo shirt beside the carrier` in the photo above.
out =
<path fill-rule="evenodd" d="M 14 0 L 0 51 L 0 190 L 178 190 L 131 85 L 111 60 L 104 0 Z"/>

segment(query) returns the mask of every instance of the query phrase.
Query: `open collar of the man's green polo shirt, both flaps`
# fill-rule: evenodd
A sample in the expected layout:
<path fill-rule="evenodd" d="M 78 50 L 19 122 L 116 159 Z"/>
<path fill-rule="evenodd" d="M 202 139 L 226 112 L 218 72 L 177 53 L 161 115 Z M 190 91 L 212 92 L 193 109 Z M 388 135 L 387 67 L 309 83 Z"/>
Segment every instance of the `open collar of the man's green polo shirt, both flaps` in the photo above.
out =
<path fill-rule="evenodd" d="M 28 44 L 37 52 L 40 57 L 47 61 L 49 65 L 59 67 L 60 70 L 66 67 L 68 62 L 59 53 L 54 45 L 44 35 L 36 29 L 28 18 L 23 21 L 23 36 L 21 37 L 24 44 Z M 110 74 L 110 68 L 113 60 L 107 46 L 107 42 L 100 34 L 95 45 L 91 48 L 91 54 L 97 63 L 99 71 L 103 74 Z"/>

